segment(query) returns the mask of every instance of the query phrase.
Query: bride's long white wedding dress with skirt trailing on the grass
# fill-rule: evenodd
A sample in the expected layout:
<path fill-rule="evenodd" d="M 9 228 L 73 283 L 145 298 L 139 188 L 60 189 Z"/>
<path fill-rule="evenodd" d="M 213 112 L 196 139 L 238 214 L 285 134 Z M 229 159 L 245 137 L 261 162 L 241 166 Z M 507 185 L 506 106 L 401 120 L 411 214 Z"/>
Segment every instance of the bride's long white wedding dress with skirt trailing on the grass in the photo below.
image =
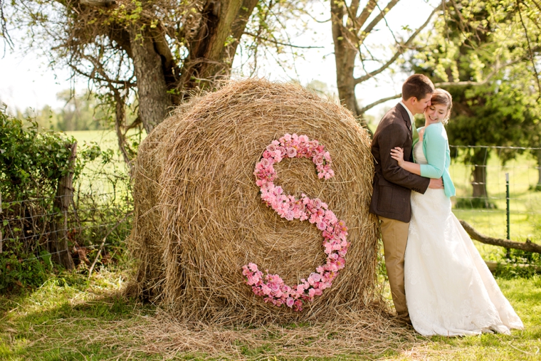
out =
<path fill-rule="evenodd" d="M 421 142 L 414 155 L 416 162 L 427 163 Z M 415 330 L 451 336 L 523 328 L 443 189 L 411 192 L 411 213 L 404 281 Z"/>

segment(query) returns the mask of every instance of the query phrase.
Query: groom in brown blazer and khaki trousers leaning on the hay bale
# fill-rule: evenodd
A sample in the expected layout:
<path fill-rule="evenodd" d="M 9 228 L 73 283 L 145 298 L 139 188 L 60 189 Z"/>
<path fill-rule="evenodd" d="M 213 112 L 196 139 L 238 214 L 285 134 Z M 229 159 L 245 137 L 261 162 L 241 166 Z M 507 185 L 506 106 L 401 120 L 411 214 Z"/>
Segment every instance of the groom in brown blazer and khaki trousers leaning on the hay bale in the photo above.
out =
<path fill-rule="evenodd" d="M 404 149 L 404 159 L 413 162 L 411 142 L 419 138 L 414 115 L 430 106 L 434 84 L 425 75 L 414 74 L 402 85 L 402 100 L 382 118 L 372 140 L 374 193 L 370 213 L 377 214 L 382 230 L 385 267 L 396 315 L 409 320 L 404 291 L 404 252 L 411 219 L 411 191 L 424 194 L 427 188 L 443 188 L 441 179 L 429 179 L 407 172 L 391 158 L 394 147 Z"/>

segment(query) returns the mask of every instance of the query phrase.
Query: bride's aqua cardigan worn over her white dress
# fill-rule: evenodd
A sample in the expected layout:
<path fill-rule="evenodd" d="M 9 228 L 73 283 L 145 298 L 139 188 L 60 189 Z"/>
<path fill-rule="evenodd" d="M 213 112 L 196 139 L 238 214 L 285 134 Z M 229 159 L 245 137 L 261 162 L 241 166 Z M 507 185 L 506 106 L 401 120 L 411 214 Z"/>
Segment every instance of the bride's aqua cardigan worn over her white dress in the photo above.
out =
<path fill-rule="evenodd" d="M 421 164 L 421 177 L 440 178 L 445 169 L 447 137 L 445 128 L 429 126 L 424 130 L 426 162 Z"/>

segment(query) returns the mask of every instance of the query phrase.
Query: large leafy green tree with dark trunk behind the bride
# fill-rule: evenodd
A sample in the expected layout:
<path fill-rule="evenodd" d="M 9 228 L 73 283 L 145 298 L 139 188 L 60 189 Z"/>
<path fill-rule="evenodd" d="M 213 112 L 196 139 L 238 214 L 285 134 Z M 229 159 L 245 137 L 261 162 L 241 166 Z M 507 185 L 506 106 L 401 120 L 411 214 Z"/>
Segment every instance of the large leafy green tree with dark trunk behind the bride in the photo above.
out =
<path fill-rule="evenodd" d="M 525 12 L 527 2 L 449 2 L 436 31 L 419 39 L 428 50 L 413 54 L 406 64 L 453 95 L 449 142 L 473 146 L 461 159 L 475 164 L 473 197 L 478 199 L 472 204 L 483 207 L 491 206 L 485 178 L 490 150 L 484 147 L 538 147 L 541 139 L 541 90 L 534 65 L 541 54 L 536 24 L 541 9 L 531 4 Z M 498 155 L 505 164 L 518 153 L 502 150 Z"/>

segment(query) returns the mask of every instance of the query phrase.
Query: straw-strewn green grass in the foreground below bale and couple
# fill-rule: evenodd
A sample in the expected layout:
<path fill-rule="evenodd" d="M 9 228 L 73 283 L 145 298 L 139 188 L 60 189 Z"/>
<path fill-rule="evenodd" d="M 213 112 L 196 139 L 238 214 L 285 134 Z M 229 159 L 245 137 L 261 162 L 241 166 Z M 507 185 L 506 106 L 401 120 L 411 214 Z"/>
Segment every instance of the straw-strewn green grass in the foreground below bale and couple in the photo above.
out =
<path fill-rule="evenodd" d="M 122 297 L 125 274 L 53 277 L 36 291 L 0 296 L 0 360 L 540 360 L 541 278 L 498 278 L 525 324 L 510 336 L 424 338 L 411 329 L 352 349 L 325 349 L 345 333 L 290 324 L 204 330 L 174 325 Z M 369 331 L 368 331 L 369 332 Z M 255 336 L 253 336 L 255 335 Z M 409 335 L 404 337 L 404 335 Z M 191 340 L 191 342 L 187 342 Z M 184 343 L 183 343 L 184 342 Z M 339 342 L 340 344 L 340 342 Z M 340 344 L 342 345 L 342 344 Z M 328 348 L 328 347 L 327 347 Z"/>

